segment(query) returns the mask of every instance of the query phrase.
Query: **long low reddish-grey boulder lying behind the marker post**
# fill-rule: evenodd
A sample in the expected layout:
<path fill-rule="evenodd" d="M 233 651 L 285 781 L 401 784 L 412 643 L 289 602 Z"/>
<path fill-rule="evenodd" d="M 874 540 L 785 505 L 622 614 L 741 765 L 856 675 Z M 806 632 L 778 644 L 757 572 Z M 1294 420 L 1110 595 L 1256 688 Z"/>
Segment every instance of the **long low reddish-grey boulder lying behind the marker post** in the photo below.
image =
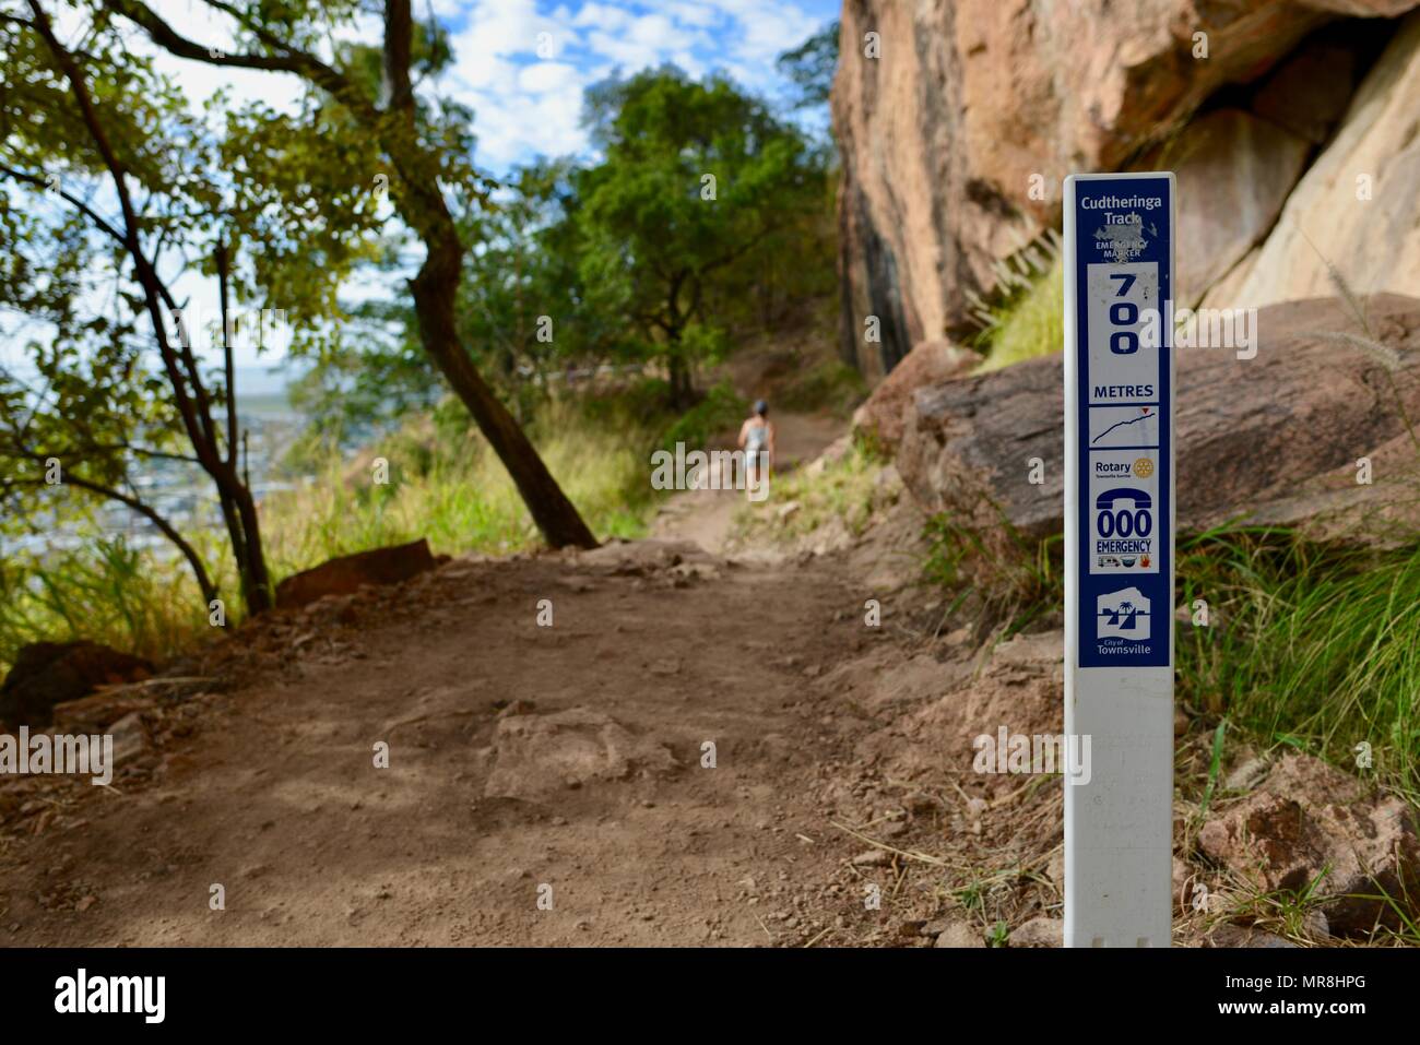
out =
<path fill-rule="evenodd" d="M 1420 300 L 1367 300 L 1372 331 L 1399 354 L 1390 373 L 1329 334 L 1358 324 L 1336 298 L 1264 308 L 1257 356 L 1177 351 L 1177 524 L 1299 525 L 1314 537 L 1384 541 L 1420 521 L 1416 452 L 1396 409 L 1420 416 Z M 929 511 L 985 535 L 1003 518 L 1028 538 L 1062 528 L 1061 358 L 919 389 L 897 470 Z M 1394 392 L 1390 382 L 1394 381 Z M 1369 486 L 1356 460 L 1373 459 Z M 1031 461 L 1044 483 L 1031 483 Z"/>

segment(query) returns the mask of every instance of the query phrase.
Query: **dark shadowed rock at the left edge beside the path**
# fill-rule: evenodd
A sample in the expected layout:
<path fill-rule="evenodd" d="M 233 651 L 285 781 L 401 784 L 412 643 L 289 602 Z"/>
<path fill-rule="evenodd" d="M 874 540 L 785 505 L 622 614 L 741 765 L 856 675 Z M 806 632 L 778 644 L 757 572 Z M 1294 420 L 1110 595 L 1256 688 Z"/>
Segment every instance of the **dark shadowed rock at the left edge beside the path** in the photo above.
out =
<path fill-rule="evenodd" d="M 151 662 L 97 642 L 36 642 L 20 649 L 0 686 L 0 723 L 48 726 L 55 704 L 152 673 Z"/>

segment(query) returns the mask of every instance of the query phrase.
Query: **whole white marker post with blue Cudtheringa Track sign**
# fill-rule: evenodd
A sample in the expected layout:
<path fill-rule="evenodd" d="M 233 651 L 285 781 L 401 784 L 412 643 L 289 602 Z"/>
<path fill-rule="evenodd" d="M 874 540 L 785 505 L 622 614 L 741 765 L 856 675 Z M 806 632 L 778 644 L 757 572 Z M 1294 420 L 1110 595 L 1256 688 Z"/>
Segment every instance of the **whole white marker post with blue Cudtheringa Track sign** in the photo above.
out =
<path fill-rule="evenodd" d="M 1167 947 L 1172 173 L 1065 179 L 1065 946 Z"/>

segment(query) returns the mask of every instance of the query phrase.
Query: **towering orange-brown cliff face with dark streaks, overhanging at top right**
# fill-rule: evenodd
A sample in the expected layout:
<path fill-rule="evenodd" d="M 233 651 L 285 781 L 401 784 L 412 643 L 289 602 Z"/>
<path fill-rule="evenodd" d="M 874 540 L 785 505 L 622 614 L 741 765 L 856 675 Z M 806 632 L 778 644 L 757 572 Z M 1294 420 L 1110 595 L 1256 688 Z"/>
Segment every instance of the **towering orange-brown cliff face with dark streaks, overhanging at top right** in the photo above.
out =
<path fill-rule="evenodd" d="M 1296 99 L 1296 84 L 1315 88 L 1318 77 L 1315 67 L 1312 74 L 1305 65 L 1292 68 L 1294 50 L 1338 17 L 1396 17 L 1414 6 L 1139 0 L 1120 17 L 1108 0 L 845 0 L 832 99 L 842 155 L 845 358 L 878 379 L 910 345 L 954 332 L 966 319 L 967 291 L 993 287 L 1000 258 L 1058 227 L 1065 175 L 1145 166 L 1152 148 L 1234 85 L 1255 91 L 1252 116 L 1268 125 L 1227 118 L 1223 131 L 1238 148 L 1210 149 L 1203 160 L 1214 173 L 1228 168 L 1227 193 L 1247 209 L 1238 227 L 1218 230 L 1230 233 L 1227 254 L 1241 257 L 1250 236 L 1265 233 L 1278 192 L 1291 187 L 1284 182 L 1296 166 L 1298 142 L 1328 132 L 1325 106 L 1306 115 Z M 1268 80 L 1274 68 L 1275 87 Z M 1345 98 L 1349 65 L 1325 68 L 1325 94 Z M 1404 111 L 1407 88 L 1397 75 L 1373 84 L 1380 99 L 1373 105 Z M 1409 105 L 1413 114 L 1413 99 Z M 1348 122 L 1356 115 L 1353 108 Z M 1360 121 L 1367 122 L 1380 124 Z M 1387 124 L 1370 143 L 1397 158 L 1409 148 L 1409 121 L 1394 115 Z M 1387 168 L 1397 193 L 1389 206 L 1397 212 L 1414 206 L 1414 193 L 1404 193 L 1413 170 L 1409 160 Z M 1196 206 L 1213 206 L 1183 193 L 1180 202 L 1180 220 L 1193 220 Z M 1308 213 L 1318 223 L 1336 220 L 1335 212 Z M 870 317 L 880 341 L 866 338 Z"/>

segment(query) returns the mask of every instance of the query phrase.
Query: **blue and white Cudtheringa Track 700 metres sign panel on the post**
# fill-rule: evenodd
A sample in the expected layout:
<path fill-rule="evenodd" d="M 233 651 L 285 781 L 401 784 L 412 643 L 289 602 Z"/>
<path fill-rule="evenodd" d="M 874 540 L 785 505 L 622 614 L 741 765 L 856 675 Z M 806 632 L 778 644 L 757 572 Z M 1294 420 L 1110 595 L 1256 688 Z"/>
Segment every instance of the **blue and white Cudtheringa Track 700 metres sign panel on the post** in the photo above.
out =
<path fill-rule="evenodd" d="M 1072 179 L 1078 664 L 1170 663 L 1173 177 Z M 1157 623 L 1156 623 L 1157 622 Z"/>

